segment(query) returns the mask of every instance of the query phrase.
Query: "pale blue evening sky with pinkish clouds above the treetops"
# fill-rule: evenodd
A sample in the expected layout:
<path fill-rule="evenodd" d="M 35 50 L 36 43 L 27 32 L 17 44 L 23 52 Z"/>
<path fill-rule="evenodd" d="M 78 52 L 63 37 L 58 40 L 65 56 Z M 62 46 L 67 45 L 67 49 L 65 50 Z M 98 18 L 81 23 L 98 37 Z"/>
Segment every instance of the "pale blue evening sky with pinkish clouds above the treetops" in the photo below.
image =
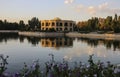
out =
<path fill-rule="evenodd" d="M 10 22 L 27 23 L 32 17 L 85 21 L 115 13 L 120 15 L 120 0 L 0 0 L 0 19 Z"/>

